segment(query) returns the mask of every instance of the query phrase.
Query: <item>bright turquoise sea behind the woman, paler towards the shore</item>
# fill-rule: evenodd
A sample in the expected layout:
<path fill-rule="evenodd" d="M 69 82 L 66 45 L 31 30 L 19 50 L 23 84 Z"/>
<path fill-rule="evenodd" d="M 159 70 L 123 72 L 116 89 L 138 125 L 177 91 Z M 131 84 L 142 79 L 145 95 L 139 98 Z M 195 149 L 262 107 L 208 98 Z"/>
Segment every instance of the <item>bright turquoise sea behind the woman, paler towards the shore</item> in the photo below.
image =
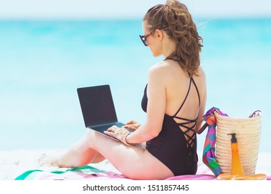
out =
<path fill-rule="evenodd" d="M 195 19 L 204 37 L 206 110 L 263 112 L 260 151 L 271 152 L 271 18 Z M 85 133 L 78 87 L 109 84 L 117 116 L 143 123 L 153 58 L 141 20 L 0 21 L 0 150 L 67 148 Z M 205 135 L 198 136 L 201 151 Z"/>

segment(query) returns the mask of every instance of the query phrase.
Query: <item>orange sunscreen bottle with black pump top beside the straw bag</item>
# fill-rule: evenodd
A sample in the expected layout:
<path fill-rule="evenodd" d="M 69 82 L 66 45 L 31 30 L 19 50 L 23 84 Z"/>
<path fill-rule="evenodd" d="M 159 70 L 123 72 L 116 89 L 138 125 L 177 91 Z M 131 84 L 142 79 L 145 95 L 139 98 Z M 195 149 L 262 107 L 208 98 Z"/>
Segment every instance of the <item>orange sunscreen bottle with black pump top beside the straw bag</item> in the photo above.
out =
<path fill-rule="evenodd" d="M 238 143 L 236 133 L 231 133 L 231 175 L 244 175 L 238 152 Z"/>

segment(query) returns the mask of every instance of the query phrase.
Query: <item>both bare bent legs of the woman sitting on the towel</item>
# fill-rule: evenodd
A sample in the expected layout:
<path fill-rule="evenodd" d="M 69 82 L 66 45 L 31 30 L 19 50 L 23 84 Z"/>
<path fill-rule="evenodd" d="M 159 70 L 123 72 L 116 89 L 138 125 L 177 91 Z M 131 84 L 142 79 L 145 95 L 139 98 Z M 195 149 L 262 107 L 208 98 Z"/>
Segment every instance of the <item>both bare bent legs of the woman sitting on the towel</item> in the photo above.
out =
<path fill-rule="evenodd" d="M 174 176 L 167 166 L 139 146 L 126 146 L 93 130 L 88 130 L 65 155 L 56 161 L 62 167 L 82 166 L 108 159 L 131 179 L 165 179 Z"/>

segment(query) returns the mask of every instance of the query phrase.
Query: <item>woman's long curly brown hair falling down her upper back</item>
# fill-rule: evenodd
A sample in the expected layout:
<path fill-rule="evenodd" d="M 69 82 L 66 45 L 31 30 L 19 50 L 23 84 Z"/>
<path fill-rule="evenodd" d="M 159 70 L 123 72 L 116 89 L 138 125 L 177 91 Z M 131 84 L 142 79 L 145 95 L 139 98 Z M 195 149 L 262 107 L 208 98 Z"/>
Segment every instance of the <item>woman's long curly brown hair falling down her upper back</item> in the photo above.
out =
<path fill-rule="evenodd" d="M 143 18 L 151 32 L 156 29 L 165 33 L 176 42 L 176 50 L 167 58 L 174 58 L 190 76 L 197 75 L 202 51 L 202 37 L 197 33 L 188 8 L 177 0 L 167 0 L 150 8 Z"/>

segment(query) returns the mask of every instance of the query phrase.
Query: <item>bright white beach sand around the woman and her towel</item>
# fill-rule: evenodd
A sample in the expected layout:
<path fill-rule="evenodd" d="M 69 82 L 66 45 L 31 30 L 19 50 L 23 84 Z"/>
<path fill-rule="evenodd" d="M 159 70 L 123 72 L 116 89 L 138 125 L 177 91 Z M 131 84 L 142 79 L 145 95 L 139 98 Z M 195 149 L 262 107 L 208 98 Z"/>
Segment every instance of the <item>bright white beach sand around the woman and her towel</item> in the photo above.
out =
<path fill-rule="evenodd" d="M 59 168 L 52 166 L 40 166 L 38 159 L 42 155 L 58 155 L 63 150 L 13 150 L 0 151 L 0 180 L 12 180 L 21 175 L 27 170 L 57 170 Z M 118 172 L 107 160 L 99 164 L 90 164 L 101 170 Z M 199 154 L 199 166 L 202 163 L 201 155 Z M 258 155 L 256 173 L 264 173 L 271 176 L 271 153 L 261 152 Z"/>

